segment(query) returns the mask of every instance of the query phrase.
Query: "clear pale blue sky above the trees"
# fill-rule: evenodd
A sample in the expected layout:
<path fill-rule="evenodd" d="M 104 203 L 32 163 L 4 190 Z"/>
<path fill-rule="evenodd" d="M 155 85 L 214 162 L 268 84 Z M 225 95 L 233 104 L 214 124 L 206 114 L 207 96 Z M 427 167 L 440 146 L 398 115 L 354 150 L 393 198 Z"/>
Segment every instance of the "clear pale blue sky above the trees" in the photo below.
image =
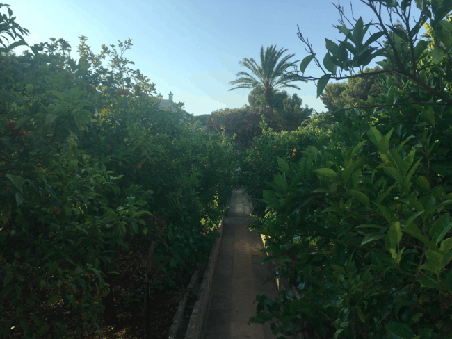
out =
<path fill-rule="evenodd" d="M 344 40 L 332 24 L 338 24 L 339 13 L 332 0 L 315 1 L 86 1 L 86 0 L 14 0 L 13 16 L 30 34 L 25 41 L 33 45 L 50 42 L 49 38 L 63 38 L 71 47 L 72 58 L 76 52 L 79 36 L 88 38 L 87 44 L 94 53 L 101 51 L 102 44 L 118 45 L 132 39 L 134 46 L 124 57 L 134 61 L 129 65 L 140 71 L 156 84 L 156 92 L 168 99 L 183 101 L 188 113 L 209 114 L 220 108 L 239 108 L 248 104 L 250 90 L 229 91 L 234 87 L 243 58 L 254 58 L 259 63 L 259 51 L 276 45 L 295 54 L 291 61 L 302 60 L 308 55 L 297 36 L 300 32 L 309 38 L 319 60 L 325 56 L 325 38 Z M 353 0 L 355 18 L 362 16 L 364 23 L 376 17 L 360 1 Z M 350 14 L 349 1 L 341 3 Z M 6 13 L 6 9 L 2 9 Z M 350 15 L 351 19 L 351 15 Z M 373 33 L 375 33 L 375 29 Z M 17 54 L 23 47 L 15 49 Z M 119 48 L 117 48 L 119 51 Z M 106 58 L 108 60 L 108 57 Z M 369 66 L 373 66 L 371 64 Z M 299 63 L 298 63 L 299 66 Z M 323 73 L 309 65 L 306 76 Z M 324 110 L 316 99 L 313 82 L 295 83 L 300 90 L 287 88 L 296 93 L 306 104 Z"/>

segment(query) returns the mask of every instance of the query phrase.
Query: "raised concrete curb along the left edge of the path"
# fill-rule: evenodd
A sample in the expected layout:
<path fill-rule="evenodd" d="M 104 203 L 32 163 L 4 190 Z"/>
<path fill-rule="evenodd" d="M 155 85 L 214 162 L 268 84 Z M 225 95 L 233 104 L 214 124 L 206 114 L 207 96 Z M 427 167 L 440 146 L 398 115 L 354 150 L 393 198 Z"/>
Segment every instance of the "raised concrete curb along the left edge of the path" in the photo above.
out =
<path fill-rule="evenodd" d="M 229 206 L 230 197 L 227 199 L 226 206 Z M 204 320 L 206 318 L 207 308 L 209 306 L 209 299 L 212 290 L 213 275 L 215 274 L 215 267 L 218 261 L 218 254 L 220 253 L 220 244 L 223 237 L 223 225 L 225 221 L 225 213 L 221 216 L 221 220 L 218 223 L 218 230 L 220 231 L 220 237 L 216 238 L 211 254 L 209 256 L 209 263 L 207 263 L 206 272 L 200 286 L 197 301 L 193 306 L 190 322 L 188 322 L 185 339 L 199 339 L 204 326 Z"/>

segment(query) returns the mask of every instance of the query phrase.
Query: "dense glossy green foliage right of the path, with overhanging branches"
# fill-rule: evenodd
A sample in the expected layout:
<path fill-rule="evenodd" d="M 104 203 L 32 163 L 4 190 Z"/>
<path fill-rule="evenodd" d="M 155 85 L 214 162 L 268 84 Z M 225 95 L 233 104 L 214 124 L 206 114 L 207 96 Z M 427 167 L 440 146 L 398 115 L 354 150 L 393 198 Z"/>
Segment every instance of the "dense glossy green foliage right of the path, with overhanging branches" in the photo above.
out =
<path fill-rule="evenodd" d="M 318 95 L 338 69 L 362 69 L 376 56 L 385 57 L 383 95 L 316 118 L 312 126 L 330 138 L 312 139 L 296 163 L 277 158 L 280 174 L 263 191 L 267 213 L 255 227 L 271 237 L 274 256 L 262 263 L 279 261 L 300 298 L 258 296 L 250 323 L 271 322 L 282 335 L 310 325 L 321 338 L 450 338 L 452 3 L 362 2 L 380 24 L 337 26 L 346 38 L 326 39 Z M 379 6 L 406 29 L 383 24 Z M 421 13 L 414 26 L 411 6 Z M 430 39 L 418 40 L 424 24 Z M 364 42 L 371 26 L 380 31 Z M 380 38 L 387 44 L 375 47 Z M 301 72 L 312 60 L 321 65 L 309 52 Z M 273 151 L 259 147 L 259 157 Z M 258 183 L 241 183 L 257 195 Z"/>

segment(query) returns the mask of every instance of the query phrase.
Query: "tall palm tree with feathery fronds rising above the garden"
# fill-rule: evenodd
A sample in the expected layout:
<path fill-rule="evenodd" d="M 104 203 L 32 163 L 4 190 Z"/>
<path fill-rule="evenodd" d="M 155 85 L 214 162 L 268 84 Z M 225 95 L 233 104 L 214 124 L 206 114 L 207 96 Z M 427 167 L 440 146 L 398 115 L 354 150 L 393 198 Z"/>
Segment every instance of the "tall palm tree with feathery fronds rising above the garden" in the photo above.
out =
<path fill-rule="evenodd" d="M 294 66 L 298 61 L 293 61 L 293 63 L 289 63 L 288 60 L 295 56 L 295 54 L 290 54 L 289 56 L 284 56 L 279 63 L 277 63 L 278 59 L 282 56 L 284 51 L 281 49 L 280 51 L 276 51 L 276 46 L 267 47 L 264 53 L 264 46 L 261 47 L 261 65 L 257 65 L 254 59 L 248 60 L 247 58 L 243 58 L 243 60 L 239 63 L 239 65 L 250 69 L 252 74 L 256 76 L 248 74 L 247 72 L 239 72 L 236 76 L 241 76 L 240 78 L 232 81 L 229 85 L 236 85 L 239 83 L 237 87 L 231 88 L 230 90 L 235 90 L 236 88 L 255 88 L 257 85 L 260 85 L 264 88 L 264 100 L 266 106 L 272 107 L 272 97 L 273 91 L 276 87 L 281 86 L 281 88 L 296 88 L 300 90 L 297 85 L 291 85 L 289 83 L 293 81 L 304 81 L 307 82 L 304 78 L 291 78 L 290 76 L 295 72 L 286 72 L 291 66 Z M 284 74 L 284 72 L 286 72 Z"/>

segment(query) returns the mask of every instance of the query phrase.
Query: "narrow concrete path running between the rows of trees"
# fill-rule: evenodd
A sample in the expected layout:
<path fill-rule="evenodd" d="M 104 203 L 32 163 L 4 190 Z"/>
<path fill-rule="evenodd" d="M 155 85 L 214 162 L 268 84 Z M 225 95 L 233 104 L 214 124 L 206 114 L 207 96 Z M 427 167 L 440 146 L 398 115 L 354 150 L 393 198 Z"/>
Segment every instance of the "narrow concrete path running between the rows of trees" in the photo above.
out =
<path fill-rule="evenodd" d="M 232 191 L 229 206 L 201 338 L 277 338 L 268 322 L 247 324 L 256 315 L 256 296 L 276 299 L 277 286 L 274 279 L 265 282 L 271 276 L 270 264 L 256 264 L 266 254 L 259 251 L 264 248 L 261 236 L 246 226 L 252 222 L 252 205 L 243 189 Z"/>

